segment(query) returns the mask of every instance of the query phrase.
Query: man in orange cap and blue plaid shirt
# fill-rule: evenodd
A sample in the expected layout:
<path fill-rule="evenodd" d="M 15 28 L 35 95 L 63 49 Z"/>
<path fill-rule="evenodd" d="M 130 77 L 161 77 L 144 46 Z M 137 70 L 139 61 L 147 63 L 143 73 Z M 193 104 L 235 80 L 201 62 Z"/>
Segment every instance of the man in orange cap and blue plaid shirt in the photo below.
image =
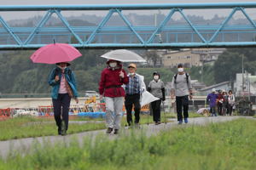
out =
<path fill-rule="evenodd" d="M 126 119 L 128 126 L 133 124 L 132 122 L 132 107 L 134 106 L 134 116 L 135 116 L 135 125 L 138 126 L 140 122 L 140 111 L 141 111 L 141 94 L 146 89 L 144 82 L 144 77 L 138 75 L 137 65 L 131 64 L 128 66 L 129 69 L 129 83 L 125 85 L 125 110 L 126 110 Z"/>

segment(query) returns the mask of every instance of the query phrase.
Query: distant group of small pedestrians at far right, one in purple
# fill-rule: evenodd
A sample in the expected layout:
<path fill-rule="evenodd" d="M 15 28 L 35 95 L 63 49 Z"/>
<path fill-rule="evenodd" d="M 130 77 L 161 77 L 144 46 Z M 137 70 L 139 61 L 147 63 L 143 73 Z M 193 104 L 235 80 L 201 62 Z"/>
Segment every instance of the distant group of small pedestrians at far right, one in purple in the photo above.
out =
<path fill-rule="evenodd" d="M 207 101 L 210 105 L 211 116 L 232 116 L 233 107 L 235 105 L 235 96 L 232 90 L 227 93 L 225 90 L 212 88 L 212 93 L 207 95 Z M 217 108 L 217 111 L 216 111 Z"/>

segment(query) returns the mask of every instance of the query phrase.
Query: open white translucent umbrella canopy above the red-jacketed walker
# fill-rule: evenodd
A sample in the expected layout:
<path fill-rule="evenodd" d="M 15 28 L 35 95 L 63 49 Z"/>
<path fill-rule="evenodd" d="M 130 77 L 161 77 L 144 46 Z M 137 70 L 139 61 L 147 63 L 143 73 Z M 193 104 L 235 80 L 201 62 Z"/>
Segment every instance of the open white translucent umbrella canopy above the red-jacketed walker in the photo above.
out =
<path fill-rule="evenodd" d="M 121 62 L 147 62 L 140 55 L 126 49 L 113 50 L 103 54 L 101 57 L 105 59 L 114 59 Z"/>

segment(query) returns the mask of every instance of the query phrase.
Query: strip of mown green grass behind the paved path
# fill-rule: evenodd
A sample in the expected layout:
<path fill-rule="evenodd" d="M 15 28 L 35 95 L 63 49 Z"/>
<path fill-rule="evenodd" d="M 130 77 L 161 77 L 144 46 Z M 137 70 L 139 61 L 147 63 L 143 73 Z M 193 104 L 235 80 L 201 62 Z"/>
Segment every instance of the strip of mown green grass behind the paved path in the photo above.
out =
<path fill-rule="evenodd" d="M 134 118 L 134 116 L 133 116 Z M 141 115 L 141 124 L 153 123 L 152 116 Z M 70 121 L 89 121 L 87 123 L 69 123 L 67 134 L 80 133 L 85 131 L 99 130 L 106 128 L 105 119 L 92 119 L 88 117 L 73 117 Z M 102 121 L 95 123 L 93 121 Z M 164 122 L 164 118 L 162 118 Z M 123 117 L 121 125 L 126 125 L 126 117 Z M 57 135 L 55 120 L 51 118 L 36 118 L 32 116 L 19 116 L 0 123 L 0 140 L 20 139 L 29 137 L 41 137 Z"/>

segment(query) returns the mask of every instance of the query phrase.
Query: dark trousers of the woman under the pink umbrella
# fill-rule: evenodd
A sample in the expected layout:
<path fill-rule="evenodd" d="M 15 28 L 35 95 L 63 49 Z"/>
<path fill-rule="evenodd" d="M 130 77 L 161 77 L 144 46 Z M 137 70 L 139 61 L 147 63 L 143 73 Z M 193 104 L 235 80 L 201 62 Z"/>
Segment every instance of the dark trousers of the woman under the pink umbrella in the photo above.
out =
<path fill-rule="evenodd" d="M 62 121 L 65 122 L 66 130 L 68 128 L 68 111 L 69 111 L 70 100 L 71 98 L 69 97 L 68 94 L 58 94 L 58 99 L 52 99 L 52 103 L 54 106 L 54 113 L 55 113 L 55 122 L 59 132 L 61 132 Z"/>

